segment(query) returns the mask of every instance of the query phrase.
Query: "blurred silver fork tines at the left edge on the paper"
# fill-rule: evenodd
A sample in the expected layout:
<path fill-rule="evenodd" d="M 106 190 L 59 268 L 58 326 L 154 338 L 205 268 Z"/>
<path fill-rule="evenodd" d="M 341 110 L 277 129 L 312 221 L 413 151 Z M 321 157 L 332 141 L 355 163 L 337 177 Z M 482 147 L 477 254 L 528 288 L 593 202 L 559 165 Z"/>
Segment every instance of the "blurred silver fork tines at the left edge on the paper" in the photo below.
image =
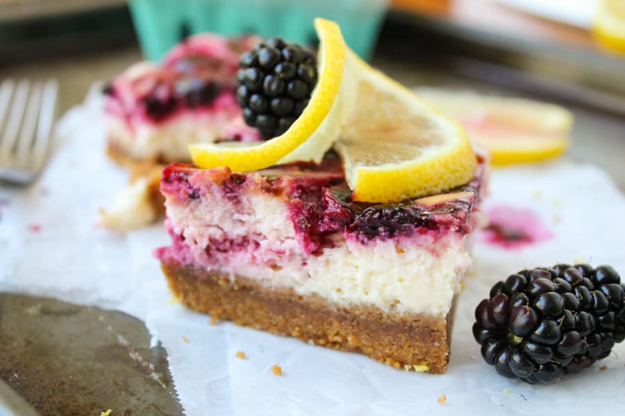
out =
<path fill-rule="evenodd" d="M 29 184 L 42 171 L 54 121 L 56 80 L 0 84 L 0 180 Z"/>

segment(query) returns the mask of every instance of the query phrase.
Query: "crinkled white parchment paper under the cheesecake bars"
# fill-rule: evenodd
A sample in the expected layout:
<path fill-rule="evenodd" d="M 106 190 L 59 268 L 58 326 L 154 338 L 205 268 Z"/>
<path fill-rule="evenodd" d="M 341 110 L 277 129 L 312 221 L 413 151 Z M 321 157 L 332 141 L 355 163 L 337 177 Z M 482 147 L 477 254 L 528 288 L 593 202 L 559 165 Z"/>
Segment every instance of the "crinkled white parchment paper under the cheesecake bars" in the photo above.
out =
<path fill-rule="evenodd" d="M 476 304 L 494 281 L 519 269 L 584 260 L 611 264 L 625 277 L 625 198 L 599 168 L 561 159 L 492 172 L 485 208 L 531 209 L 553 238 L 518 250 L 477 239 L 447 373 L 419 374 L 229 323 L 210 325 L 206 315 L 169 302 L 151 254 L 169 241 L 163 226 L 115 234 L 94 225 L 127 175 L 105 156 L 99 104 L 92 96 L 63 116 L 58 148 L 36 184 L 0 188 L 0 289 L 145 320 L 167 349 L 188 415 L 599 415 L 624 408 L 625 345 L 581 375 L 534 386 L 497 375 L 471 333 Z M 247 358 L 236 358 L 238 351 Z M 272 373 L 274 364 L 283 376 Z"/>

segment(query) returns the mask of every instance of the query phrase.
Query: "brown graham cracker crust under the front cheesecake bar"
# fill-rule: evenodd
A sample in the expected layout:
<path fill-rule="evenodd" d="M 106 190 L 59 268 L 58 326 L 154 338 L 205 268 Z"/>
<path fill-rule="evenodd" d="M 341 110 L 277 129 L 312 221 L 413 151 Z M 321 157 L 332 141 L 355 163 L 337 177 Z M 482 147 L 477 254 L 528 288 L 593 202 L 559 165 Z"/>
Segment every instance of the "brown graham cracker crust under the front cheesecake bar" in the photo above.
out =
<path fill-rule="evenodd" d="M 253 279 L 161 263 L 169 288 L 190 309 L 213 319 L 307 343 L 360 352 L 406 370 L 443 373 L 449 361 L 453 306 L 446 318 L 388 313 L 372 305 L 340 306 L 292 288 L 267 288 Z"/>

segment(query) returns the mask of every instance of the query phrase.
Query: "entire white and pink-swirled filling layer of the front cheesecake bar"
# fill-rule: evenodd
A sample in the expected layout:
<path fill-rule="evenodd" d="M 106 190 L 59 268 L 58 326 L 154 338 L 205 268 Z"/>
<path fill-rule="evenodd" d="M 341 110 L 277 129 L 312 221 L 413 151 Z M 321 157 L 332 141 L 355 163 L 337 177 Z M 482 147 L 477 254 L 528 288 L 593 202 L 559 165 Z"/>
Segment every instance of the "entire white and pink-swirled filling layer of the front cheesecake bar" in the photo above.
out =
<path fill-rule="evenodd" d="M 190 205 L 168 200 L 167 216 L 174 234 L 184 236 L 194 263 L 233 279 L 256 279 L 341 305 L 372 304 L 444 318 L 471 263 L 469 236 L 455 232 L 366 244 L 337 233 L 322 254 L 308 254 L 280 198 L 241 193 L 233 205 L 213 186 L 215 192 Z"/>

